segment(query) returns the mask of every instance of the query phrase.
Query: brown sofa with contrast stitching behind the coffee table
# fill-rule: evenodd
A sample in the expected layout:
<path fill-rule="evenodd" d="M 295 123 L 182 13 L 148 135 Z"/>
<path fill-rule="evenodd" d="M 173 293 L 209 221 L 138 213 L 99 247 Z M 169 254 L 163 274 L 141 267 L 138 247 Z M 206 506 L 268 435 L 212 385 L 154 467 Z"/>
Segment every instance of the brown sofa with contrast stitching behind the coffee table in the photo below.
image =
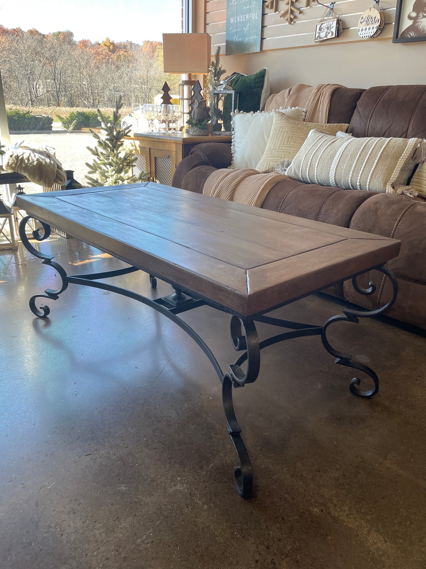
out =
<path fill-rule="evenodd" d="M 356 137 L 426 138 L 426 85 L 337 89 L 328 122 L 349 123 L 348 132 Z M 208 175 L 230 164 L 229 145 L 197 145 L 178 164 L 173 185 L 201 193 Z M 388 263 L 398 277 L 399 292 L 387 314 L 426 328 L 426 200 L 285 180 L 270 190 L 262 208 L 399 239 L 400 254 Z M 360 279 L 365 286 L 369 280 L 377 285 L 370 296 L 358 294 L 350 281 L 324 292 L 372 310 L 391 294 L 389 279 L 377 279 L 374 272 Z"/>

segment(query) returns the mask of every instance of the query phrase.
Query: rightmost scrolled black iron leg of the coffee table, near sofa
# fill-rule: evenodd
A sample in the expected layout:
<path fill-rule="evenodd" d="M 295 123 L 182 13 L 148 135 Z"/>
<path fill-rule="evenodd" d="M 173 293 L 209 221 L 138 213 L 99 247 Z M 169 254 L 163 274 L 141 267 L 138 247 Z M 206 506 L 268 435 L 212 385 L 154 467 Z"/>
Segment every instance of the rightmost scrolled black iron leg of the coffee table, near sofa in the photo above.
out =
<path fill-rule="evenodd" d="M 335 348 L 333 348 L 327 339 L 327 328 L 329 327 L 329 325 L 331 325 L 335 322 L 338 322 L 338 321 L 347 321 L 347 322 L 358 323 L 360 321 L 359 320 L 360 318 L 369 318 L 370 316 L 378 316 L 379 314 L 382 314 L 388 308 L 390 308 L 392 306 L 392 304 L 394 304 L 395 299 L 396 299 L 396 295 L 398 294 L 398 281 L 396 281 L 395 275 L 392 273 L 391 270 L 389 270 L 385 266 L 376 267 L 375 270 L 383 273 L 383 275 L 384 275 L 383 278 L 388 277 L 392 283 L 394 292 L 393 292 L 392 298 L 389 300 L 389 302 L 387 302 L 385 304 L 385 306 L 382 306 L 381 308 L 377 308 L 377 310 L 370 310 L 370 311 L 359 311 L 359 310 L 352 310 L 352 308 L 344 308 L 344 310 L 343 310 L 344 315 L 332 316 L 332 318 L 327 320 L 327 322 L 324 324 L 323 329 L 321 331 L 321 340 L 323 342 L 324 348 L 327 350 L 328 353 L 331 353 L 332 356 L 336 357 L 336 361 L 335 361 L 336 364 L 344 365 L 348 368 L 358 369 L 361 372 L 366 373 L 367 376 L 370 376 L 371 379 L 373 380 L 374 387 L 371 389 L 366 389 L 366 390 L 358 389 L 357 386 L 360 385 L 361 380 L 359 380 L 357 377 L 354 377 L 350 381 L 350 384 L 349 384 L 350 392 L 353 393 L 354 395 L 356 395 L 357 397 L 364 397 L 364 398 L 373 397 L 377 393 L 377 391 L 379 389 L 379 379 L 378 379 L 377 375 L 367 365 L 361 364 L 361 362 L 353 360 L 352 359 L 353 356 L 351 354 L 339 352 L 339 350 L 336 350 Z M 371 281 L 369 282 L 369 288 L 362 288 L 357 283 L 357 277 L 354 277 L 352 279 L 352 284 L 353 284 L 355 290 L 357 292 L 359 292 L 360 294 L 370 295 L 370 294 L 373 294 L 376 290 L 375 284 Z"/>

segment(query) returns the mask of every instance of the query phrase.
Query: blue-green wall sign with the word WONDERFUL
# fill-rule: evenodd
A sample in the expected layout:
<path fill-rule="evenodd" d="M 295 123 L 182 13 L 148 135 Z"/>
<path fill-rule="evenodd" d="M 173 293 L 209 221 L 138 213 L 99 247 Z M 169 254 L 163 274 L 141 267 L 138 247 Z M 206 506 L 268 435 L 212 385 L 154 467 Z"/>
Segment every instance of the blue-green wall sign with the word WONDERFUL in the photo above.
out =
<path fill-rule="evenodd" d="M 226 55 L 260 51 L 262 0 L 227 0 Z"/>

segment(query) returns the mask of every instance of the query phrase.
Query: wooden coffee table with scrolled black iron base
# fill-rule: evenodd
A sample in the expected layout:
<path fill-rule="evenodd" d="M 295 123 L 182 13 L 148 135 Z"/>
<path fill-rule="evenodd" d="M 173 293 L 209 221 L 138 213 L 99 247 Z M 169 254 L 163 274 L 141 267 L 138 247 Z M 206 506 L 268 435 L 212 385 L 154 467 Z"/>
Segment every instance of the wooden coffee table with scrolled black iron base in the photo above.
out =
<path fill-rule="evenodd" d="M 201 347 L 222 382 L 228 432 L 240 461 L 234 469 L 240 496 L 252 494 L 253 475 L 234 413 L 232 388 L 256 381 L 262 348 L 300 336 L 321 336 L 336 364 L 364 372 L 373 381 L 369 389 L 360 389 L 355 377 L 350 391 L 364 398 L 377 393 L 374 371 L 333 348 L 327 329 L 336 321 L 356 323 L 359 318 L 381 314 L 395 302 L 398 283 L 385 263 L 398 255 L 399 241 L 152 182 L 18 196 L 18 205 L 28 213 L 19 228 L 24 246 L 43 259 L 44 265 L 53 267 L 62 281 L 60 290 L 47 289 L 30 299 L 33 314 L 39 318 L 49 314 L 47 306 L 37 308 L 38 298 L 57 300 L 68 284 L 84 284 L 147 304 Z M 43 232 L 41 228 L 33 232 L 37 241 L 48 238 L 52 225 L 130 266 L 107 273 L 68 275 L 52 255 L 41 253 L 28 241 L 26 224 L 31 218 L 43 226 Z M 393 286 L 392 298 L 377 310 L 344 308 L 343 314 L 332 316 L 323 326 L 266 316 L 279 306 L 346 279 L 352 279 L 361 294 L 373 294 L 373 282 L 366 288 L 357 282 L 358 275 L 371 269 L 380 274 L 382 286 L 386 278 Z M 174 294 L 152 300 L 102 282 L 137 270 L 150 274 L 153 287 L 157 277 L 170 283 Z M 204 305 L 231 315 L 232 344 L 242 353 L 226 372 L 201 336 L 178 316 Z M 259 341 L 256 322 L 287 331 Z"/>

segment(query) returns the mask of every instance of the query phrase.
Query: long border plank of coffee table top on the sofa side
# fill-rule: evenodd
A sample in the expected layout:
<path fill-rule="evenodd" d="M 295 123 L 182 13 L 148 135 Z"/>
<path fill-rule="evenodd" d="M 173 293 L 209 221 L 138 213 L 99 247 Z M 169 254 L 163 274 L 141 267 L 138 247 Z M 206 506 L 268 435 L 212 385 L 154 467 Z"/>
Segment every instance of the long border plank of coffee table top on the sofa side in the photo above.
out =
<path fill-rule="evenodd" d="M 186 197 L 187 199 L 195 201 L 203 201 L 204 203 L 211 203 L 211 201 L 214 200 L 215 205 L 218 205 L 219 207 L 233 209 L 235 211 L 241 211 L 243 213 L 248 213 L 250 215 L 257 215 L 259 217 L 266 217 L 268 219 L 286 222 L 289 223 L 290 225 L 298 225 L 299 227 L 304 227 L 307 229 L 316 229 L 317 231 L 331 233 L 333 235 L 338 235 L 339 237 L 358 238 L 358 239 L 375 238 L 379 240 L 388 240 L 388 241 L 392 240 L 392 237 L 376 235 L 374 233 L 366 233 L 358 229 L 350 229 L 348 227 L 341 227 L 340 225 L 332 225 L 324 223 L 323 221 L 315 221 L 307 219 L 305 217 L 297 217 L 289 215 L 288 213 L 274 212 L 271 209 L 255 208 L 252 207 L 251 205 L 237 204 L 234 201 L 223 200 L 220 199 L 219 197 L 204 196 L 202 193 L 191 192 L 187 189 L 175 188 L 170 185 L 157 184 L 156 182 L 148 182 L 147 185 L 150 189 L 156 189 L 157 191 L 163 191 L 165 193 L 173 193 L 174 195 Z"/>

